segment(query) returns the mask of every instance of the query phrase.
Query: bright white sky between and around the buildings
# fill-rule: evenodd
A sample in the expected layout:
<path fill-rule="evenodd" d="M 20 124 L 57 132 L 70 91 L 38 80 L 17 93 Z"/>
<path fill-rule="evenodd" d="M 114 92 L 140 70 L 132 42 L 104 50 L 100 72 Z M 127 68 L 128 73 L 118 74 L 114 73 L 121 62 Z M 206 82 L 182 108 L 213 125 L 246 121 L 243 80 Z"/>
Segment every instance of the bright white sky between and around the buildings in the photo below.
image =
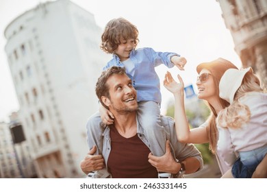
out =
<path fill-rule="evenodd" d="M 61 0 L 67 1 L 67 0 Z M 225 27 L 220 4 L 216 0 L 72 0 L 94 14 L 102 29 L 111 19 L 120 16 L 136 25 L 139 30 L 138 47 L 152 47 L 155 51 L 169 51 L 184 56 L 188 63 L 185 71 L 164 65 L 156 68 L 161 81 L 162 114 L 173 95 L 164 88 L 166 71 L 179 73 L 185 85 L 193 84 L 196 91 L 196 65 L 216 58 L 225 58 L 241 67 L 234 51 L 233 39 Z M 25 11 L 35 8 L 40 0 L 0 0 L 0 122 L 8 122 L 11 112 L 19 109 L 5 54 L 5 27 Z"/>

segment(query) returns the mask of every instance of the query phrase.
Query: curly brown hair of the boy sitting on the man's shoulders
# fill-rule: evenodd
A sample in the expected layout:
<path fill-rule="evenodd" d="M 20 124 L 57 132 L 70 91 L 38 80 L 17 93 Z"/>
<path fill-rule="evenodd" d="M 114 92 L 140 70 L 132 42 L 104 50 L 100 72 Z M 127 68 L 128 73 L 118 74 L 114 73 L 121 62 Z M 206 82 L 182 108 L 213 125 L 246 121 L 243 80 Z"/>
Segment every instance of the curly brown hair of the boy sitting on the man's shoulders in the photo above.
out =
<path fill-rule="evenodd" d="M 138 44 L 138 29 L 135 25 L 131 24 L 122 17 L 118 19 L 112 19 L 105 26 L 105 30 L 101 36 L 100 49 L 106 53 L 114 53 L 114 51 L 120 45 L 120 40 L 128 40 L 132 38 L 134 43 Z"/>

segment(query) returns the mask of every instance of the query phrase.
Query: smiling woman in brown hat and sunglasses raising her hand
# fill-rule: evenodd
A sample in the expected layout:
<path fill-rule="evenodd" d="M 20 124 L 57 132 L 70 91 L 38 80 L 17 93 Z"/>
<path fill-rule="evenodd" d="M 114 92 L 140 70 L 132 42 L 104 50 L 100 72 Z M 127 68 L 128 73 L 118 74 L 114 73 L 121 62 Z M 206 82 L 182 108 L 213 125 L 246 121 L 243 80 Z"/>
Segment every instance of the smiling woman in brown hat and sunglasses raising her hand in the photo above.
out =
<path fill-rule="evenodd" d="M 216 117 L 220 110 L 229 106 L 229 103 L 219 97 L 219 83 L 220 78 L 227 69 L 238 69 L 234 64 L 223 58 L 218 58 L 212 62 L 204 62 L 196 67 L 196 71 L 199 73 L 197 77 L 196 86 L 199 90 L 199 99 L 204 99 L 209 106 L 211 113 L 205 123 L 190 130 L 188 121 L 186 119 L 186 112 L 184 107 L 184 93 L 183 93 L 183 80 L 178 75 L 180 83 L 175 82 L 169 72 L 166 73 L 164 79 L 164 86 L 168 91 L 172 92 L 175 97 L 175 129 L 177 132 L 177 139 L 182 143 L 209 143 L 209 148 L 216 155 L 218 165 L 222 174 L 229 169 L 234 162 L 225 162 L 222 158 L 223 154 L 220 150 L 216 149 L 218 141 L 218 130 L 216 127 Z M 229 135 L 227 129 L 223 134 Z M 236 154 L 233 154 L 233 159 L 236 159 Z M 267 157 L 265 157 L 267 159 Z M 256 169 L 253 177 L 266 177 L 267 165 L 266 160 L 262 161 Z"/>

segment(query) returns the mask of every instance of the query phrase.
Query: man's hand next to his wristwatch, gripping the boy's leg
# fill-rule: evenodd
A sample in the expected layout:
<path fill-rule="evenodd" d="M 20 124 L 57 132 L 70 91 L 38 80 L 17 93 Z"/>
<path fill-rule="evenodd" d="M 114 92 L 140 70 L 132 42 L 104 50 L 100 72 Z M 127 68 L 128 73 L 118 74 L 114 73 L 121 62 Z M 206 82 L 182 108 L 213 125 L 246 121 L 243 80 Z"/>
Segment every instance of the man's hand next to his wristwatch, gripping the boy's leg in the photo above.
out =
<path fill-rule="evenodd" d="M 157 171 L 167 173 L 176 174 L 181 169 L 181 165 L 174 160 L 173 154 L 170 152 L 170 141 L 166 141 L 166 153 L 163 156 L 149 154 L 149 163 L 157 168 Z"/>

